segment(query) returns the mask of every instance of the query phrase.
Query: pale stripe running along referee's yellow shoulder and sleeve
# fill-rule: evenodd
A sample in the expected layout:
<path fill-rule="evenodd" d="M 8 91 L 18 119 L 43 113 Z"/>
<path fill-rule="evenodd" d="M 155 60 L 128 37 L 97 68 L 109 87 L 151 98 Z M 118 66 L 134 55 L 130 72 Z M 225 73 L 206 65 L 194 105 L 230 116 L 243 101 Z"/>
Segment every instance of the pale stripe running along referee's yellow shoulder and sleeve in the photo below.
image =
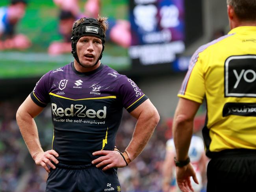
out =
<path fill-rule="evenodd" d="M 223 37 L 220 37 L 219 39 L 215 39 L 214 41 L 211 41 L 203 46 L 200 46 L 198 48 L 198 50 L 193 54 L 193 56 L 191 57 L 190 59 L 190 62 L 189 62 L 189 68 L 188 68 L 188 71 L 187 71 L 187 74 L 184 78 L 184 81 L 182 83 L 182 87 L 180 89 L 180 92 L 179 94 L 181 95 L 185 95 L 185 92 L 186 92 L 186 89 L 187 89 L 187 83 L 189 81 L 189 78 L 190 78 L 190 75 L 191 75 L 191 72 L 195 66 L 195 64 L 197 63 L 197 60 L 198 60 L 198 57 L 199 57 L 199 54 L 204 51 L 206 48 L 208 48 L 209 46 L 219 42 L 219 41 L 222 41 L 223 39 L 226 39 L 227 37 L 230 37 L 231 35 L 234 35 L 234 33 L 232 34 L 228 34 L 228 35 L 224 35 Z"/>

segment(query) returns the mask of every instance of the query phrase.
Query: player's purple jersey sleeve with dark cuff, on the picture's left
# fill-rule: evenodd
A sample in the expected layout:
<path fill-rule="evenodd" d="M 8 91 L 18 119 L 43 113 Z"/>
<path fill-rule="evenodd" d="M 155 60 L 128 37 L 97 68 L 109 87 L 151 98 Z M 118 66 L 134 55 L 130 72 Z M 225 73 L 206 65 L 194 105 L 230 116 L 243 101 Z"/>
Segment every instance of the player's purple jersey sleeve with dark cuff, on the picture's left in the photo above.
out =
<path fill-rule="evenodd" d="M 46 73 L 39 79 L 39 81 L 36 83 L 35 88 L 30 93 L 30 96 L 40 107 L 46 107 L 46 105 L 50 102 L 50 96 L 49 96 L 49 76 L 50 72 Z"/>

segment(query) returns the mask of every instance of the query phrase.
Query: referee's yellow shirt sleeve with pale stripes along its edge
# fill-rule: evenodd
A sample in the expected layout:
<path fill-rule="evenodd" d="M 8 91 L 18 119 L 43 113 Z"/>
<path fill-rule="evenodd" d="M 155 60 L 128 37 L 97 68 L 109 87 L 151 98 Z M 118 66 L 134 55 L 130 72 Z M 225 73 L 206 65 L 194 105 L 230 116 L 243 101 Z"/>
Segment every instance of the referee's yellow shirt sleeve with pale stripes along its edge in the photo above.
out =
<path fill-rule="evenodd" d="M 183 80 L 178 97 L 202 103 L 205 95 L 204 70 L 198 50 L 191 57 L 187 74 Z"/>

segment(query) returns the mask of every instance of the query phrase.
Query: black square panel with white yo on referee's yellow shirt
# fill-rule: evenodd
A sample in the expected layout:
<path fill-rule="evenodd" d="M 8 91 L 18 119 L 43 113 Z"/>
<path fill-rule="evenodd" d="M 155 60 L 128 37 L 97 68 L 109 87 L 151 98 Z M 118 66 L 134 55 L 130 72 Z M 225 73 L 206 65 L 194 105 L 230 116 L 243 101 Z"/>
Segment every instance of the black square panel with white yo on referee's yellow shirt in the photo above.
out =
<path fill-rule="evenodd" d="M 224 73 L 225 97 L 256 97 L 256 55 L 228 57 Z"/>

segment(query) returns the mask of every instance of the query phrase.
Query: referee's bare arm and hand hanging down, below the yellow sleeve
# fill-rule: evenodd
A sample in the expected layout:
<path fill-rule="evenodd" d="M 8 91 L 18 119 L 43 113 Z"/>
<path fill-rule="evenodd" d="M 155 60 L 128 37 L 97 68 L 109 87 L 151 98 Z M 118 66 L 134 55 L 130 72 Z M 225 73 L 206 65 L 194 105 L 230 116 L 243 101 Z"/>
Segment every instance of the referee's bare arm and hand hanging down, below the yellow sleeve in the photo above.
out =
<path fill-rule="evenodd" d="M 173 139 L 177 161 L 185 161 L 188 156 L 189 145 L 193 134 L 193 122 L 200 103 L 180 98 L 173 120 Z M 176 179 L 182 192 L 193 190 L 190 177 L 198 183 L 191 163 L 183 167 L 176 167 Z"/>

